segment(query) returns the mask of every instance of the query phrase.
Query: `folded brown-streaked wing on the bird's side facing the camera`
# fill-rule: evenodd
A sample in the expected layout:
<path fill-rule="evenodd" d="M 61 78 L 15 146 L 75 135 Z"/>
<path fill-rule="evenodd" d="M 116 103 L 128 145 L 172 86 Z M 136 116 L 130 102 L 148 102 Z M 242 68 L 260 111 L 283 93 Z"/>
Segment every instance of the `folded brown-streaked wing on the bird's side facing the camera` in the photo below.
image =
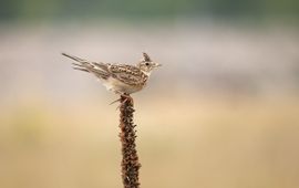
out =
<path fill-rule="evenodd" d="M 147 80 L 147 75 L 133 65 L 111 64 L 109 71 L 114 79 L 128 85 L 143 85 Z"/>

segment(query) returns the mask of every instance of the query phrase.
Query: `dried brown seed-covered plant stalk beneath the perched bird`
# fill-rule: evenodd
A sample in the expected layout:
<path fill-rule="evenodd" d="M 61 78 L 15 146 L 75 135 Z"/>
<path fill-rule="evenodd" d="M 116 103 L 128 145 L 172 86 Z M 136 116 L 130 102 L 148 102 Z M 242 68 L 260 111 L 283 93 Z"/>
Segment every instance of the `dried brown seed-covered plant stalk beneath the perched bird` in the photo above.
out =
<path fill-rule="evenodd" d="M 121 96 L 121 142 L 122 142 L 122 179 L 124 188 L 138 188 L 138 156 L 136 150 L 135 138 L 136 125 L 133 123 L 133 100 L 130 96 Z"/>

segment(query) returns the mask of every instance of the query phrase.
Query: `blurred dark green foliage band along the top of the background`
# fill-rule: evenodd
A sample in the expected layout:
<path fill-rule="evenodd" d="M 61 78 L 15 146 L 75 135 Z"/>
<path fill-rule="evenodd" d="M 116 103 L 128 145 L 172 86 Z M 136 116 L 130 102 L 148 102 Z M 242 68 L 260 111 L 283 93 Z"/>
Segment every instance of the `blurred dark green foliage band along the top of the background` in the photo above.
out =
<path fill-rule="evenodd" d="M 3 20 L 60 20 L 68 18 L 118 17 L 123 19 L 172 19 L 216 17 L 226 19 L 299 19 L 297 0 L 6 0 Z"/>

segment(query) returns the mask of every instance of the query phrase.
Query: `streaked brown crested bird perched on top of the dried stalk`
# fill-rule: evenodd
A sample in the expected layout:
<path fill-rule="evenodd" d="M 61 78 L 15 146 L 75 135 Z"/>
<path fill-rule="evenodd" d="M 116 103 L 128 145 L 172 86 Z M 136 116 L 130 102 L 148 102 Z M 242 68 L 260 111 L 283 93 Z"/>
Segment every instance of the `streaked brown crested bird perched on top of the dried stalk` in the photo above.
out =
<path fill-rule="evenodd" d="M 162 64 L 152 61 L 145 52 L 143 52 L 143 59 L 135 65 L 93 62 L 66 53 L 61 54 L 75 61 L 73 63 L 74 70 L 92 73 L 107 91 L 126 98 L 130 98 L 130 94 L 144 88 L 152 71 L 162 66 Z"/>

